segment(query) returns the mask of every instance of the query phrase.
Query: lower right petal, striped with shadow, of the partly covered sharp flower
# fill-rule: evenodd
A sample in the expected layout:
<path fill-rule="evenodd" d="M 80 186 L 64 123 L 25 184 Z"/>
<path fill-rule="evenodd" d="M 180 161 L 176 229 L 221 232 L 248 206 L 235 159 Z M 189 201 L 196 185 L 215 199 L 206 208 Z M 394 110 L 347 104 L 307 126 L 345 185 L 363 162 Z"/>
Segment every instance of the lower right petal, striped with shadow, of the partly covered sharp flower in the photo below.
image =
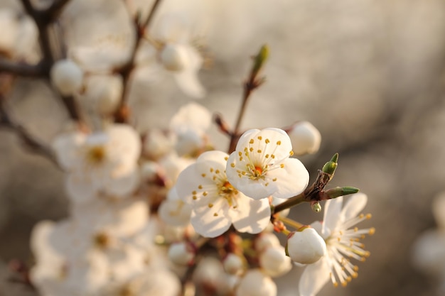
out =
<path fill-rule="evenodd" d="M 270 220 L 270 206 L 267 199 L 251 199 L 239 193 L 237 199 L 237 216 L 233 217 L 233 226 L 240 232 L 258 234 L 263 231 Z"/>

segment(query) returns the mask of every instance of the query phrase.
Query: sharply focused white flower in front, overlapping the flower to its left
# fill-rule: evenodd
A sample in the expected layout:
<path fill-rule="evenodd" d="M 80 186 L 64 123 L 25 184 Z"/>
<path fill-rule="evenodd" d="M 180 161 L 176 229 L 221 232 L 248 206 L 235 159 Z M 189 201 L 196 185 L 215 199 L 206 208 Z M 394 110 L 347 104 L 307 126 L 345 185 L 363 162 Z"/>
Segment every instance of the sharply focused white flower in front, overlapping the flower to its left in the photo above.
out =
<path fill-rule="evenodd" d="M 293 155 L 286 132 L 279 128 L 246 131 L 227 160 L 227 178 L 254 199 L 290 198 L 306 189 L 309 172 Z"/>

